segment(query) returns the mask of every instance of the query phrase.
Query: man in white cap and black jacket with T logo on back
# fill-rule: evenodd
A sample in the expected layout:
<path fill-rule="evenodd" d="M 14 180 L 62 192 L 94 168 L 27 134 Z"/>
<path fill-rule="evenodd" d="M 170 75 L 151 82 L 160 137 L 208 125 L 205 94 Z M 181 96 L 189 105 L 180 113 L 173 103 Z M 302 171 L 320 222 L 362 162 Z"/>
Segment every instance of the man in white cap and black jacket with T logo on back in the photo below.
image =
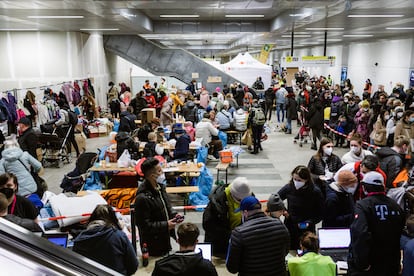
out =
<path fill-rule="evenodd" d="M 361 183 L 367 197 L 355 205 L 348 275 L 399 275 L 403 211 L 385 195 L 380 173 L 366 173 Z"/>

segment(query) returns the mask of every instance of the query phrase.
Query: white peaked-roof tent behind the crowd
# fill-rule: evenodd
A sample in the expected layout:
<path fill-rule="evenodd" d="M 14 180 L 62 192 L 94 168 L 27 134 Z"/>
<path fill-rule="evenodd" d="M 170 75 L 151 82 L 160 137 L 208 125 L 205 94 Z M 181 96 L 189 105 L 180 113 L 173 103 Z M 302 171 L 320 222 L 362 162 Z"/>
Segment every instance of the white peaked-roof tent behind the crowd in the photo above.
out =
<path fill-rule="evenodd" d="M 257 61 L 249 53 L 240 53 L 234 59 L 222 65 L 223 71 L 232 77 L 252 86 L 257 77 L 262 77 L 265 89 L 270 86 L 272 66 Z"/>

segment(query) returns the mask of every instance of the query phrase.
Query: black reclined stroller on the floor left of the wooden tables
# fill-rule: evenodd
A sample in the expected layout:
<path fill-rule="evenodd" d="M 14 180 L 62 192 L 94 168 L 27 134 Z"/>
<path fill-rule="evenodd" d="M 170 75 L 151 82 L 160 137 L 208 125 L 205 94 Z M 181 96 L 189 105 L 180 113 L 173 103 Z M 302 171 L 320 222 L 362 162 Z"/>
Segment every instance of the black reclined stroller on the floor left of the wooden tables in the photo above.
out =
<path fill-rule="evenodd" d="M 79 155 L 75 168 L 63 177 L 62 183 L 60 184 L 64 193 L 77 193 L 82 189 L 85 179 L 88 176 L 88 170 L 93 166 L 97 158 L 98 154 L 95 152 L 84 152 Z"/>

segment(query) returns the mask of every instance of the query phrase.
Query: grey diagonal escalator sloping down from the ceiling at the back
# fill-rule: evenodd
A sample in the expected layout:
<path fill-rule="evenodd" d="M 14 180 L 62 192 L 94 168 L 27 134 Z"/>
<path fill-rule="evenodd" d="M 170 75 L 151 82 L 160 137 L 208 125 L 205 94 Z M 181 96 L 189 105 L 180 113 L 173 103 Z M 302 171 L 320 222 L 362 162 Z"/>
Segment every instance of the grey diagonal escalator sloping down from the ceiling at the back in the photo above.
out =
<path fill-rule="evenodd" d="M 154 75 L 175 77 L 187 84 L 197 73 L 199 77 L 194 79 L 208 91 L 224 84 L 242 83 L 190 52 L 164 48 L 138 35 L 104 36 L 104 48 Z"/>

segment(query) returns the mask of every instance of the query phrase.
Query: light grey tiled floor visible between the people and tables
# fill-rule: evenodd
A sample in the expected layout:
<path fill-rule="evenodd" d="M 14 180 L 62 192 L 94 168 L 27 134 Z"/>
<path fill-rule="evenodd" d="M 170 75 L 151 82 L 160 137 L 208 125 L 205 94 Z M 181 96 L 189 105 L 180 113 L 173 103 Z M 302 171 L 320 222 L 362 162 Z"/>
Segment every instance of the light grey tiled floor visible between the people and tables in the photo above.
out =
<path fill-rule="evenodd" d="M 268 135 L 268 140 L 263 142 L 263 151 L 257 155 L 249 152 L 242 153 L 239 156 L 239 167 L 229 169 L 229 181 L 237 176 L 245 176 L 248 178 L 252 187 L 252 191 L 259 199 L 267 199 L 271 193 L 276 193 L 283 185 L 290 180 L 290 174 L 297 165 L 307 165 L 310 157 L 315 151 L 310 150 L 310 144 L 304 144 L 303 147 L 293 143 L 293 137 L 297 133 L 294 127 L 291 135 L 283 132 L 275 132 L 275 123 L 270 123 L 272 132 Z M 96 151 L 97 148 L 108 143 L 107 137 L 88 139 L 86 143 L 87 151 Z M 245 146 L 242 148 L 246 149 Z M 342 156 L 346 149 L 335 149 L 335 153 Z M 60 182 L 63 175 L 70 172 L 74 163 L 64 165 L 62 168 L 46 168 L 44 178 L 48 182 L 49 190 L 59 193 Z M 207 167 L 213 173 L 216 180 L 216 171 L 214 167 L 217 162 L 209 161 Z M 224 180 L 224 174 L 220 173 L 220 178 Z M 180 205 L 182 201 L 174 200 L 174 204 Z M 204 232 L 201 226 L 202 212 L 187 212 L 185 221 L 196 223 L 200 230 L 201 236 L 199 241 L 204 240 Z M 177 249 L 177 244 L 172 241 L 172 245 Z M 214 259 L 219 275 L 231 275 L 226 271 L 224 260 Z M 150 260 L 148 267 L 141 267 L 135 275 L 151 275 L 154 266 L 154 260 Z"/>

